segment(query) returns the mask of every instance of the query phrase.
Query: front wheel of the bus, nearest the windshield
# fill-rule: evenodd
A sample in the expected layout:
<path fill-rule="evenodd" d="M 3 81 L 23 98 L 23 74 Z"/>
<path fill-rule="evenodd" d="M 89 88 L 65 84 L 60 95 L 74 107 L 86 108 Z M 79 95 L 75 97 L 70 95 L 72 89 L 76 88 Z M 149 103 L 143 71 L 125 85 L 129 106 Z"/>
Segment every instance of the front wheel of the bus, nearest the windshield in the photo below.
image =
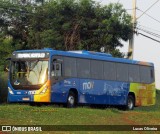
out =
<path fill-rule="evenodd" d="M 74 92 L 70 91 L 67 98 L 67 107 L 73 108 L 75 106 L 76 106 L 76 95 L 74 94 Z"/>

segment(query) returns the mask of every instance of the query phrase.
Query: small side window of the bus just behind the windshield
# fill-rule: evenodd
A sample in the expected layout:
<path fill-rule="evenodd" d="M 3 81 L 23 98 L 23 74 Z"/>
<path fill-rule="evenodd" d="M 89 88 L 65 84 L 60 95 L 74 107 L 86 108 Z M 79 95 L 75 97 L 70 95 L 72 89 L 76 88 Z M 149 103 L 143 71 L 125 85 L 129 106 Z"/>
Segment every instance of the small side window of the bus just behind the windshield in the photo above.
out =
<path fill-rule="evenodd" d="M 60 63 L 53 63 L 51 76 L 62 76 L 62 65 Z"/>

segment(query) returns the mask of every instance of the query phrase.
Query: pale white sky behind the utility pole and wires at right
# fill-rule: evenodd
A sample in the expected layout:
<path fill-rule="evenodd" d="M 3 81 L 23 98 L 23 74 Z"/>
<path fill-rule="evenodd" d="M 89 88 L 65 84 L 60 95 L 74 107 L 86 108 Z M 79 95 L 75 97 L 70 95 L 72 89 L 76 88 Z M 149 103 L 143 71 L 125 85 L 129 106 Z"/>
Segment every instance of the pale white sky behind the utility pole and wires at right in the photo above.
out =
<path fill-rule="evenodd" d="M 119 2 L 127 10 L 127 12 L 132 15 L 133 0 L 94 0 L 94 1 L 100 2 L 102 5 Z M 137 26 L 143 30 L 147 30 L 152 33 L 160 35 L 159 7 L 160 7 L 160 0 L 136 0 Z M 147 9 L 149 10 L 145 12 Z M 143 14 L 142 11 L 145 12 L 145 14 Z M 141 30 L 138 30 L 138 32 L 160 41 L 160 36 L 155 37 Z M 123 44 L 124 47 L 120 48 L 120 51 L 126 53 L 128 52 L 129 43 L 123 42 Z M 160 42 L 153 41 L 152 39 L 146 38 L 140 34 L 135 35 L 133 59 L 154 63 L 156 88 L 160 89 Z"/>

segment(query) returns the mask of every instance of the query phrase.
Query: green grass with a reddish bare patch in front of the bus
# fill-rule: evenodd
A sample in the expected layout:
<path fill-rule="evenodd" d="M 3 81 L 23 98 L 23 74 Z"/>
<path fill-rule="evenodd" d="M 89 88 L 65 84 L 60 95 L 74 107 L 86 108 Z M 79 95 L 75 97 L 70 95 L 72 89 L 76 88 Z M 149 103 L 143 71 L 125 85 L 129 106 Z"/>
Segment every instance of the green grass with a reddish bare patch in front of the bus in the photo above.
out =
<path fill-rule="evenodd" d="M 5 82 L 7 75 L 1 76 L 5 80 L 0 78 L 0 97 L 3 102 L 0 104 L 0 125 L 160 125 L 160 91 L 157 91 L 155 106 L 136 107 L 133 111 L 122 111 L 117 108 L 96 109 L 86 106 L 74 109 L 58 105 L 37 107 L 4 103 L 7 96 Z"/>

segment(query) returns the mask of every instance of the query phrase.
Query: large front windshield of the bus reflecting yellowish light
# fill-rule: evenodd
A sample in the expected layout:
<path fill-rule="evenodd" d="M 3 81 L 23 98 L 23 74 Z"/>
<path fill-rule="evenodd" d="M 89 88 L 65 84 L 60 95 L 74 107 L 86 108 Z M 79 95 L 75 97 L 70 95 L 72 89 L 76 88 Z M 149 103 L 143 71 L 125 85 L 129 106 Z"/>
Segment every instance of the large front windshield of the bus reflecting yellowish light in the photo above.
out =
<path fill-rule="evenodd" d="M 40 86 L 48 79 L 47 60 L 11 61 L 11 84 L 14 87 Z"/>

